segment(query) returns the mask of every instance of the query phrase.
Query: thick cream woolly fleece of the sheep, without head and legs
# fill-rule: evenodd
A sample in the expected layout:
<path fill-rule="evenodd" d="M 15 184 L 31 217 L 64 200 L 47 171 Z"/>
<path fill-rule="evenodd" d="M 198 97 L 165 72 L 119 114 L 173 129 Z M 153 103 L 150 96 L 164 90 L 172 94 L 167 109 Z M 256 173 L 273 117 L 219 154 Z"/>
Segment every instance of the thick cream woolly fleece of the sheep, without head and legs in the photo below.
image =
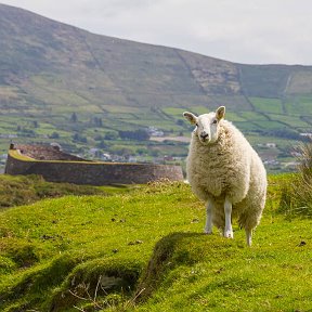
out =
<path fill-rule="evenodd" d="M 227 120 L 219 122 L 217 142 L 203 145 L 192 133 L 186 160 L 192 191 L 204 202 L 213 203 L 212 222 L 224 230 L 224 200 L 232 202 L 232 217 L 247 231 L 253 230 L 262 214 L 266 194 L 264 166 L 242 132 Z"/>

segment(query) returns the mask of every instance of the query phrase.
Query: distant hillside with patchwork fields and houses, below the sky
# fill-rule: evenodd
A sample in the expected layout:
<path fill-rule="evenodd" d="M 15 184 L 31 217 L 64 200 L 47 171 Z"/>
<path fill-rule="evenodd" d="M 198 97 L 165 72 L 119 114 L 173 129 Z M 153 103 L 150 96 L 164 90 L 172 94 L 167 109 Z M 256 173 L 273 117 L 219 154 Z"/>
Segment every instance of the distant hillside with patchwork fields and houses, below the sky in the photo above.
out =
<path fill-rule="evenodd" d="M 93 35 L 3 4 L 0 29 L 1 154 L 11 140 L 56 141 L 84 157 L 94 157 L 95 147 L 96 158 L 180 159 L 191 132 L 181 113 L 226 105 L 229 120 L 268 168 L 285 171 L 294 160 L 291 145 L 311 132 L 311 66 L 234 64 Z M 151 126 L 169 139 L 127 140 L 119 133 Z M 177 136 L 182 142 L 173 144 Z M 266 143 L 276 147 L 268 151 Z"/>

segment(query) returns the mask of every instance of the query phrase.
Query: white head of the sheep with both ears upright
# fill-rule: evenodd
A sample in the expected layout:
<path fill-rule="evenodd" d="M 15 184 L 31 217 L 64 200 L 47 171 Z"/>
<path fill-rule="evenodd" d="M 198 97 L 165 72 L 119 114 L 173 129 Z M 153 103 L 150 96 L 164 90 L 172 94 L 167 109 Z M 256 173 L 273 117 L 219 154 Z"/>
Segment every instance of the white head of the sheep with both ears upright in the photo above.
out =
<path fill-rule="evenodd" d="M 194 133 L 203 144 L 214 143 L 219 138 L 219 123 L 225 115 L 225 107 L 220 106 L 216 112 L 195 116 L 192 113 L 184 112 L 183 116 L 196 128 Z"/>

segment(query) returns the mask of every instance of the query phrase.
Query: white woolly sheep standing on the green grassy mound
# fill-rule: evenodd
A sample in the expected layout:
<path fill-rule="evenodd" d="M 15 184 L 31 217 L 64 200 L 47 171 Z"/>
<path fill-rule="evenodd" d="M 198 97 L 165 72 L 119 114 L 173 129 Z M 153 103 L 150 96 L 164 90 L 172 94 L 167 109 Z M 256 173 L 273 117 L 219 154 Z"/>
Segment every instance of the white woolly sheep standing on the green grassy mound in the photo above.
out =
<path fill-rule="evenodd" d="M 224 114 L 224 106 L 198 117 L 183 113 L 196 125 L 186 174 L 194 194 L 207 203 L 205 233 L 211 234 L 214 224 L 224 237 L 233 238 L 232 217 L 237 217 L 250 246 L 265 204 L 266 172 L 242 132 L 223 119 Z"/>

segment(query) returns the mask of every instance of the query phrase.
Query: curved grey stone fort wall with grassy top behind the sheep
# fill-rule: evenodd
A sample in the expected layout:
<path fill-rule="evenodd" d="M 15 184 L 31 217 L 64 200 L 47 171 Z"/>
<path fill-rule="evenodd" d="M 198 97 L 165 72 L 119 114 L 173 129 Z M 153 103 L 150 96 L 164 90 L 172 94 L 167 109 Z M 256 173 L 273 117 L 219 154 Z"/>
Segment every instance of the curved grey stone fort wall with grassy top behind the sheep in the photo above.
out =
<path fill-rule="evenodd" d="M 169 179 L 171 181 L 183 180 L 180 166 L 98 162 L 81 160 L 81 158 L 74 161 L 55 159 L 38 160 L 30 158 L 29 154 L 27 155 L 25 152 L 25 145 L 23 146 L 23 154 L 17 148 L 18 146 L 12 146 L 13 148 L 9 151 L 5 173 L 13 176 L 40 174 L 51 182 L 90 185 L 142 184 L 160 179 Z M 42 151 L 40 152 L 41 154 L 43 153 Z"/>

